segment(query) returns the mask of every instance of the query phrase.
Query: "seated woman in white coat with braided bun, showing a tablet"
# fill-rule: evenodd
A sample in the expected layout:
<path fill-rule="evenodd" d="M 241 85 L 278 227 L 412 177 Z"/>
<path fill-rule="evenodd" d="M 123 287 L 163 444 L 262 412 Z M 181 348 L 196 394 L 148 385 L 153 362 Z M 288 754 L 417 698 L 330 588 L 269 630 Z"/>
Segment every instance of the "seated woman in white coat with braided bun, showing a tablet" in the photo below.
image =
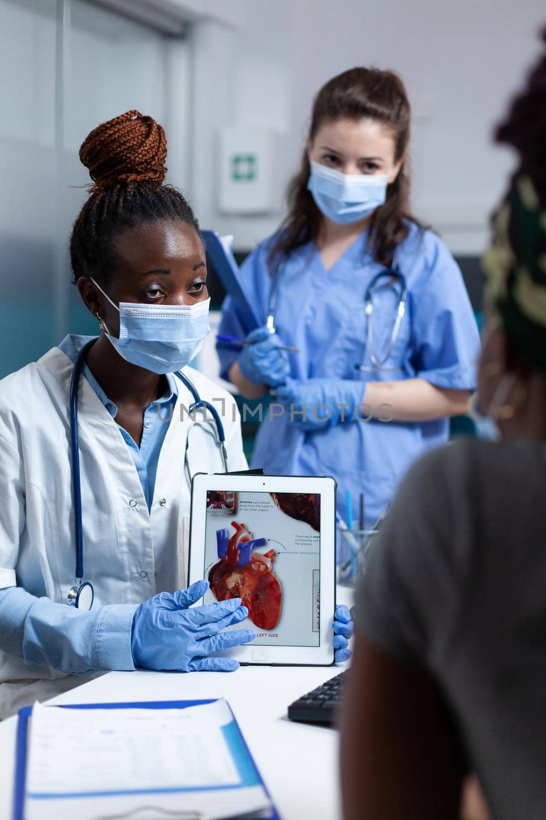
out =
<path fill-rule="evenodd" d="M 209 332 L 205 252 L 192 209 L 162 185 L 165 157 L 164 130 L 138 112 L 89 134 L 94 184 L 70 256 L 102 333 L 67 336 L 0 384 L 0 717 L 96 671 L 230 671 L 210 656 L 255 636 L 223 631 L 245 619 L 240 599 L 190 609 L 206 583 L 183 589 L 188 477 L 247 465 L 232 397 L 186 367 Z M 194 392 L 226 403 L 225 451 L 219 426 L 188 416 Z M 66 605 L 74 585 L 80 608 Z"/>

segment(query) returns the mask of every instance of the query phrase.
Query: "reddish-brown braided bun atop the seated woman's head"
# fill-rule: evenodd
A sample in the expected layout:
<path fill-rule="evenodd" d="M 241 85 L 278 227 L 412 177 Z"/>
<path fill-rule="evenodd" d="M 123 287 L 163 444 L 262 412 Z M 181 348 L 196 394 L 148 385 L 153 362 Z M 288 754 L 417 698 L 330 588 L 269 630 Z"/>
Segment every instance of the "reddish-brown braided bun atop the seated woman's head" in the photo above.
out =
<path fill-rule="evenodd" d="M 128 182 L 165 180 L 167 138 L 151 116 L 128 111 L 93 129 L 79 149 L 79 158 L 89 169 L 92 193 Z"/>

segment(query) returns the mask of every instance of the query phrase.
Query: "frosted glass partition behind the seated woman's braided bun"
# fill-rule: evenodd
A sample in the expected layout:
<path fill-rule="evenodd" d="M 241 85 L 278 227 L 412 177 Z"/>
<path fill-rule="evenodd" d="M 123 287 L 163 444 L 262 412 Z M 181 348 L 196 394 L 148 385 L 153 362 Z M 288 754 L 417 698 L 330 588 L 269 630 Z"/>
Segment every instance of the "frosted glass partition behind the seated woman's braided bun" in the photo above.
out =
<path fill-rule="evenodd" d="M 89 182 L 79 145 L 138 108 L 165 125 L 169 181 L 189 179 L 189 44 L 85 0 L 0 0 L 0 378 L 66 333 L 97 333 L 70 282 Z"/>

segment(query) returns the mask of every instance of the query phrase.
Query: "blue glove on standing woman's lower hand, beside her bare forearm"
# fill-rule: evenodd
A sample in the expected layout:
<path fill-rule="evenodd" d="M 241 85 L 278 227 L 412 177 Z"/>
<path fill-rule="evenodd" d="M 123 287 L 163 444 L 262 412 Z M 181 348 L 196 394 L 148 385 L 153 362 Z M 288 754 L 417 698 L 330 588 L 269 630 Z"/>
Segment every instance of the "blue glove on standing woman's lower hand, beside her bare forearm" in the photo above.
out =
<path fill-rule="evenodd" d="M 290 419 L 304 430 L 325 430 L 341 421 L 367 418 L 364 402 L 366 383 L 350 379 L 287 379 L 275 391 Z M 319 407 L 318 405 L 326 405 Z M 301 411 L 305 409 L 305 419 Z M 363 416 L 362 416 L 363 413 Z"/>

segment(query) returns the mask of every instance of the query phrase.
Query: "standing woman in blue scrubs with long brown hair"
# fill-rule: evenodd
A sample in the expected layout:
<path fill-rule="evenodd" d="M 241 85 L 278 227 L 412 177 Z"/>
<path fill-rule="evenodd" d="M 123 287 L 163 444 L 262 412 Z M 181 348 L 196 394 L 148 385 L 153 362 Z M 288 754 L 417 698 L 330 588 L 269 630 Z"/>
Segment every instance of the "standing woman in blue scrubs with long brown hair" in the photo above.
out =
<path fill-rule="evenodd" d="M 354 68 L 314 101 L 288 214 L 242 267 L 264 326 L 219 347 L 247 398 L 276 393 L 252 464 L 336 477 L 370 524 L 476 387 L 479 339 L 463 278 L 409 208 L 410 108 L 390 71 Z M 273 330 L 275 332 L 270 332 Z M 231 298 L 221 332 L 246 335 Z M 297 352 L 280 349 L 289 346 Z"/>

